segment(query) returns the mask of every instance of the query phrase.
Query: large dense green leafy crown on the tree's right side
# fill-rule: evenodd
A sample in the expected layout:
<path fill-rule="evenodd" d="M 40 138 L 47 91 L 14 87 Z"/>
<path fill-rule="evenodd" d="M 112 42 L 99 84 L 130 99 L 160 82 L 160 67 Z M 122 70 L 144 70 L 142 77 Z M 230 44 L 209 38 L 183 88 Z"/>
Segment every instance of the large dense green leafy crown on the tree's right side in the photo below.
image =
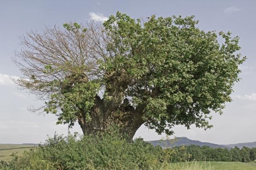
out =
<path fill-rule="evenodd" d="M 104 22 L 112 36 L 109 48 L 115 57 L 103 63 L 107 72 L 126 70 L 132 79 L 126 91 L 133 104 L 147 103 L 146 125 L 156 132 L 171 134 L 166 127 L 195 124 L 212 127 L 210 110 L 222 113 L 231 101 L 235 81 L 239 81 L 241 58 L 238 37 L 196 26 L 194 16 L 182 18 L 155 15 L 141 24 L 126 14 L 116 13 Z"/>

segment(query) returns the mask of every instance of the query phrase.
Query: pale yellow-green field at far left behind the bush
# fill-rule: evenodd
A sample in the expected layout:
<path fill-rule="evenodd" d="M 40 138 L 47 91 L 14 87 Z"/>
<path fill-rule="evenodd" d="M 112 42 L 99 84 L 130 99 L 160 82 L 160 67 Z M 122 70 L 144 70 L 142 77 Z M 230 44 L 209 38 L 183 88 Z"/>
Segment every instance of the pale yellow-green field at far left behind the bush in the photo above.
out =
<path fill-rule="evenodd" d="M 20 144 L 0 144 L 0 160 L 9 161 L 12 153 L 21 155 L 25 150 L 33 148 L 32 145 L 20 145 Z"/>

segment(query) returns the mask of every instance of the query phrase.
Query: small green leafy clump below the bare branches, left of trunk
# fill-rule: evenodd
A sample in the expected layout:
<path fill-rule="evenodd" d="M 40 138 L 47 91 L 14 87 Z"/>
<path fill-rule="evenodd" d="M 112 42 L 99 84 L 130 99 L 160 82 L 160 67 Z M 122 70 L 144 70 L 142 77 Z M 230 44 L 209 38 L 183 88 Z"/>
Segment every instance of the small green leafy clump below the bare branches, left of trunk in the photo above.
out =
<path fill-rule="evenodd" d="M 69 83 L 68 80 L 65 81 Z M 87 83 L 74 84 L 70 89 L 64 89 L 62 93 L 54 93 L 51 95 L 51 100 L 44 108 L 46 113 L 57 113 L 57 108 L 61 108 L 61 113 L 58 117 L 58 124 L 69 123 L 73 126 L 80 110 L 86 114 L 86 121 L 90 121 L 90 109 L 94 106 L 94 96 L 99 90 L 99 84 L 94 81 Z"/>

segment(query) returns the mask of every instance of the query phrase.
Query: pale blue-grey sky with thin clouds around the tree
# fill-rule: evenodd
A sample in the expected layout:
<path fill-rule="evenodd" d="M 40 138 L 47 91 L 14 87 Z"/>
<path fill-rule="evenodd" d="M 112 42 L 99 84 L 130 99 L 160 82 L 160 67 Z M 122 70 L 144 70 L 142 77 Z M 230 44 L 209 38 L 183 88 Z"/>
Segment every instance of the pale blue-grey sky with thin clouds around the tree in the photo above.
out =
<path fill-rule="evenodd" d="M 186 129 L 176 126 L 174 136 L 215 144 L 233 144 L 256 141 L 256 1 L 255 0 L 0 0 L 0 144 L 39 143 L 47 135 L 67 134 L 66 125 L 56 125 L 54 115 L 31 113 L 30 105 L 39 106 L 35 96 L 27 93 L 10 80 L 21 73 L 12 62 L 15 50 L 26 31 L 42 32 L 45 26 L 62 26 L 89 19 L 103 22 L 116 11 L 133 18 L 195 15 L 198 27 L 204 31 L 231 31 L 240 37 L 240 53 L 247 60 L 241 65 L 241 81 L 234 86 L 233 101 L 226 103 L 223 115 L 212 113 L 212 129 L 204 131 L 194 126 Z M 71 132 L 81 132 L 76 124 Z M 158 140 L 153 130 L 140 127 L 135 137 Z M 171 138 L 173 136 L 170 136 Z"/>

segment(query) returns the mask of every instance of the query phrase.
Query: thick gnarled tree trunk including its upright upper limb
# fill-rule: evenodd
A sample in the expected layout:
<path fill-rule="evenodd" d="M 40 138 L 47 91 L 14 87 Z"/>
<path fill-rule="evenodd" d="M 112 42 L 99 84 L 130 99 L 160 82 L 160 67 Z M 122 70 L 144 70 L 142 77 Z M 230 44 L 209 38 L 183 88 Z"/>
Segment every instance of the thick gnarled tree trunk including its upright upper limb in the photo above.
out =
<path fill-rule="evenodd" d="M 78 117 L 79 125 L 84 134 L 96 134 L 117 125 L 121 134 L 128 136 L 129 140 L 132 141 L 135 132 L 145 123 L 145 120 L 143 120 L 145 105 L 142 104 L 133 108 L 128 99 L 124 98 L 130 82 L 125 69 L 120 72 L 106 74 L 106 76 L 109 82 L 106 85 L 105 92 L 112 99 L 108 101 L 96 96 L 95 105 L 90 113 L 91 121 L 85 121 L 85 114 L 81 110 Z"/>

